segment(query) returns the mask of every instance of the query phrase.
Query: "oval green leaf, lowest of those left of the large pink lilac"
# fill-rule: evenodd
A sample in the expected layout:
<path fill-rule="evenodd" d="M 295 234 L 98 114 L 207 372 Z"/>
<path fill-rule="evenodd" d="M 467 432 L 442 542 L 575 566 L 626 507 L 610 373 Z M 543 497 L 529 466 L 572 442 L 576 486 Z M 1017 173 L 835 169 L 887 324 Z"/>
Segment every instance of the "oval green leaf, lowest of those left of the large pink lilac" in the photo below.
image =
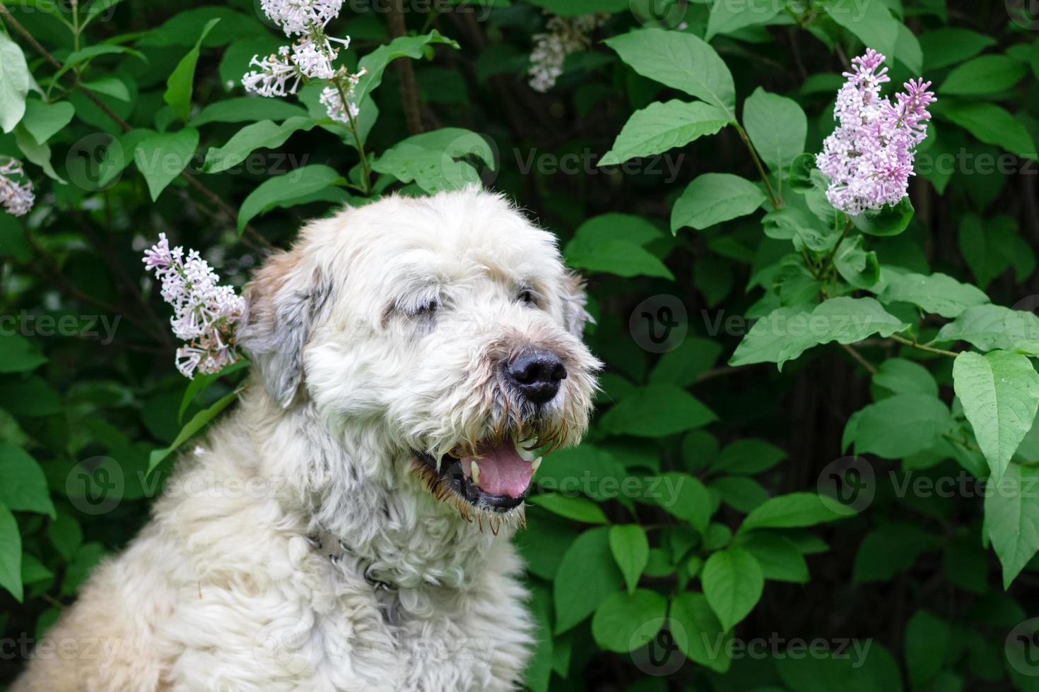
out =
<path fill-rule="evenodd" d="M 753 213 L 767 199 L 761 188 L 730 173 L 697 176 L 671 210 L 671 232 L 692 226 L 702 230 L 722 221 Z"/>

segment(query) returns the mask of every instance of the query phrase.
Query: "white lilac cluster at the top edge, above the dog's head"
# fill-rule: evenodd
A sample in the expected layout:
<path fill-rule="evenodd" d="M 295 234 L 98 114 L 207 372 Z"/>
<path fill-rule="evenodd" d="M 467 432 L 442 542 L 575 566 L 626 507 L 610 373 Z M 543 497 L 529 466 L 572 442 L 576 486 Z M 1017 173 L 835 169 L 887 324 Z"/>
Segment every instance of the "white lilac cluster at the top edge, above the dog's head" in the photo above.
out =
<path fill-rule="evenodd" d="M 350 47 L 350 37 L 325 34 L 325 26 L 342 6 L 343 0 L 261 0 L 260 7 L 267 18 L 282 27 L 286 36 L 298 38 L 265 58 L 252 56 L 249 66 L 258 70 L 242 77 L 245 90 L 261 96 L 287 96 L 295 93 L 301 82 L 324 80 L 328 84 L 321 91 L 321 105 L 328 117 L 339 122 L 356 117 L 357 106 L 350 96 L 364 71 L 351 75 L 346 67 L 334 67 L 339 51 Z"/>

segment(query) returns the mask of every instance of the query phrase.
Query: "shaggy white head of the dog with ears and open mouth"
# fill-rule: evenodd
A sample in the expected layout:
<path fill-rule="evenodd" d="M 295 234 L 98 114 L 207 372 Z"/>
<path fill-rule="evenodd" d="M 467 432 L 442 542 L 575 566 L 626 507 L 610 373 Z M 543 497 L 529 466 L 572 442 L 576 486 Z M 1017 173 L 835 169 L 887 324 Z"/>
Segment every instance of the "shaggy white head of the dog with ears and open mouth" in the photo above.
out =
<path fill-rule="evenodd" d="M 403 460 L 366 472 L 398 488 L 417 473 L 463 516 L 518 506 L 538 454 L 587 426 L 600 363 L 581 282 L 500 196 L 390 197 L 312 223 L 246 298 L 239 342 L 269 398 Z"/>

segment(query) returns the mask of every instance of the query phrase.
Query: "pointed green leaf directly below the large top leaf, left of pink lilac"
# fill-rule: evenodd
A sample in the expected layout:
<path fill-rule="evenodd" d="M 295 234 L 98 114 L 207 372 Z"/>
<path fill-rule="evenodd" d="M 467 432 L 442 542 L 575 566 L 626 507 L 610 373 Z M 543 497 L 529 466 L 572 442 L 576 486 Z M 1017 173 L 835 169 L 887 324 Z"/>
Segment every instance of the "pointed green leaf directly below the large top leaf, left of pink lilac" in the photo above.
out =
<path fill-rule="evenodd" d="M 636 157 L 661 154 L 685 146 L 705 135 L 713 135 L 728 124 L 725 112 L 701 102 L 655 102 L 632 113 L 613 147 L 600 159 L 597 166 L 613 166 Z"/>

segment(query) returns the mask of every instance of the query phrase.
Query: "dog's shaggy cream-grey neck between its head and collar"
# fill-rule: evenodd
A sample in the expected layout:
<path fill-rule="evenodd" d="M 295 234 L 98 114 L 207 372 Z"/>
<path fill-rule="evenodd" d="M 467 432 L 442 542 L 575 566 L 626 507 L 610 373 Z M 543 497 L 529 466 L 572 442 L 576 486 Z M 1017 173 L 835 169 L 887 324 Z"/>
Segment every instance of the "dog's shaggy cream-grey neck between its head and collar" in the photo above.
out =
<path fill-rule="evenodd" d="M 241 406 L 254 421 L 258 472 L 282 489 L 287 510 L 305 517 L 311 537 L 334 537 L 370 581 L 465 587 L 494 543 L 514 532 L 518 518 L 467 520 L 434 498 L 411 471 L 411 455 L 377 424 L 335 430 L 310 405 L 275 407 L 261 387 L 246 390 Z"/>

